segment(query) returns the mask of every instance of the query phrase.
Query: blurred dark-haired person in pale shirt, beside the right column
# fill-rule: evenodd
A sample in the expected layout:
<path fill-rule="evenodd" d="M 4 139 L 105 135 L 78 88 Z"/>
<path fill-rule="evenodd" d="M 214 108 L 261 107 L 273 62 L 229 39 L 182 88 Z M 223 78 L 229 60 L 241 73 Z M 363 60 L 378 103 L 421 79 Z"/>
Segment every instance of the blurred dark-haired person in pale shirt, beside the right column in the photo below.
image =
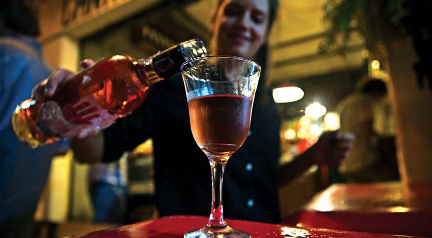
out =
<path fill-rule="evenodd" d="M 353 133 L 355 140 L 347 159 L 339 167 L 347 182 L 374 182 L 399 179 L 392 137 L 380 138 L 374 129 L 374 107 L 387 97 L 387 85 L 381 79 L 365 76 L 357 91 L 343 99 L 336 110 L 341 131 Z"/>

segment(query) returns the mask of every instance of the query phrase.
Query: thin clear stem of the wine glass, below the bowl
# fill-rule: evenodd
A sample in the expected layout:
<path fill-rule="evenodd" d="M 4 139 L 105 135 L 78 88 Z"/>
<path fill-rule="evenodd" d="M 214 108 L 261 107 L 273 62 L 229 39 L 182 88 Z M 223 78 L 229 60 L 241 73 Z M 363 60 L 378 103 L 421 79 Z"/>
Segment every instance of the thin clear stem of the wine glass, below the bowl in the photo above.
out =
<path fill-rule="evenodd" d="M 207 226 L 224 227 L 226 222 L 223 220 L 222 180 L 227 158 L 209 158 L 209 161 L 212 168 L 212 213 Z"/>

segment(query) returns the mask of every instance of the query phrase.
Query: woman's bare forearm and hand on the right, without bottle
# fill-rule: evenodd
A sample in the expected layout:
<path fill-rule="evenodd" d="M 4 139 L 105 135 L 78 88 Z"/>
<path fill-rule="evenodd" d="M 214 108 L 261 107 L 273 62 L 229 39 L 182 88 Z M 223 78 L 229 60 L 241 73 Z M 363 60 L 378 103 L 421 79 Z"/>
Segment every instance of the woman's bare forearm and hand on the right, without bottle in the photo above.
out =
<path fill-rule="evenodd" d="M 353 141 L 354 135 L 352 134 L 342 134 L 339 131 L 324 133 L 303 154 L 279 168 L 279 186 L 289 184 L 314 164 L 326 164 L 331 167 L 339 166 L 347 157 Z"/>

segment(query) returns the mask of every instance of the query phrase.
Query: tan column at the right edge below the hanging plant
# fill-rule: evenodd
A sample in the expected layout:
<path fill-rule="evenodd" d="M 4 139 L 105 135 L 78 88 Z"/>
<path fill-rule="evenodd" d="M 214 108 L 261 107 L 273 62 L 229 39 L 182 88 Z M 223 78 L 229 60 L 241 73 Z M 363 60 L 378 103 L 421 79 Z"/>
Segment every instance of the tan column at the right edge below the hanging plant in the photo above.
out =
<path fill-rule="evenodd" d="M 426 82 L 424 88 L 418 86 L 411 39 L 393 40 L 387 49 L 402 182 L 410 198 L 431 200 L 425 188 L 432 188 L 432 92 Z"/>

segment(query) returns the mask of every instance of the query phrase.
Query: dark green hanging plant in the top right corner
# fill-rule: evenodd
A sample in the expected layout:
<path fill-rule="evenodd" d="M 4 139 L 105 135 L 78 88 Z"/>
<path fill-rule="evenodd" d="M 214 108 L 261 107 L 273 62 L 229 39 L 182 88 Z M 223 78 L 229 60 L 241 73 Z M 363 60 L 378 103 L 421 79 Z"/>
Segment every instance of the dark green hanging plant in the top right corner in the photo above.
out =
<path fill-rule="evenodd" d="M 353 29 L 365 39 L 366 48 L 378 55 L 387 42 L 411 36 L 419 61 L 413 66 L 421 88 L 429 81 L 432 91 L 432 0 L 327 0 L 324 22 L 328 25 L 320 51 L 343 51 Z"/>

